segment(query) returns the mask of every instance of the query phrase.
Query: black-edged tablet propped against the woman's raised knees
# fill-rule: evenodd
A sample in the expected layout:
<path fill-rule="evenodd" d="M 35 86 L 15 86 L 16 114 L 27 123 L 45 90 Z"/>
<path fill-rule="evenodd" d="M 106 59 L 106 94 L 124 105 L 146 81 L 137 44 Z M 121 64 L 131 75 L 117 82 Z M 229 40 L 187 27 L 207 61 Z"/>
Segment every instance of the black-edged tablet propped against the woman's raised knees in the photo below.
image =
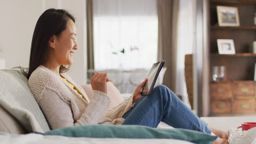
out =
<path fill-rule="evenodd" d="M 165 61 L 160 61 L 152 65 L 152 68 L 150 69 L 148 74 L 148 81 L 145 83 L 145 86 L 142 89 L 141 95 L 148 95 L 153 91 L 155 82 L 158 79 L 158 75 L 162 67 L 164 66 L 164 64 L 165 64 Z"/>

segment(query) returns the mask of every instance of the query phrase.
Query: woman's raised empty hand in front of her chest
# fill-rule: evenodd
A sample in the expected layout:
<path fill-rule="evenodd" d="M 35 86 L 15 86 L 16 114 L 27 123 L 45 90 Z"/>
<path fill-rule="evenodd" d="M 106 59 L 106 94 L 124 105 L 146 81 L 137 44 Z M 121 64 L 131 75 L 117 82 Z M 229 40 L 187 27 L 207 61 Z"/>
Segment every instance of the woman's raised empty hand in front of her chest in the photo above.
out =
<path fill-rule="evenodd" d="M 108 71 L 103 73 L 94 74 L 94 76 L 91 77 L 91 88 L 96 91 L 101 91 L 103 93 L 107 94 L 107 82 L 108 79 Z"/>

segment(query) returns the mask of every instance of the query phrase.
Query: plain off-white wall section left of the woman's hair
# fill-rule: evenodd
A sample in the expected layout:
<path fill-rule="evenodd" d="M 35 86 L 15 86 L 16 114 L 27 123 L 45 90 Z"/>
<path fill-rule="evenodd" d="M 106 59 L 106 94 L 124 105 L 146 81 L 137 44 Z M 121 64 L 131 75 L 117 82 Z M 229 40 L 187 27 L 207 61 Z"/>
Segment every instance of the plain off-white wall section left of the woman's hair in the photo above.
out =
<path fill-rule="evenodd" d="M 28 67 L 31 40 L 42 3 L 34 0 L 0 2 L 0 58 L 5 68 Z"/>

